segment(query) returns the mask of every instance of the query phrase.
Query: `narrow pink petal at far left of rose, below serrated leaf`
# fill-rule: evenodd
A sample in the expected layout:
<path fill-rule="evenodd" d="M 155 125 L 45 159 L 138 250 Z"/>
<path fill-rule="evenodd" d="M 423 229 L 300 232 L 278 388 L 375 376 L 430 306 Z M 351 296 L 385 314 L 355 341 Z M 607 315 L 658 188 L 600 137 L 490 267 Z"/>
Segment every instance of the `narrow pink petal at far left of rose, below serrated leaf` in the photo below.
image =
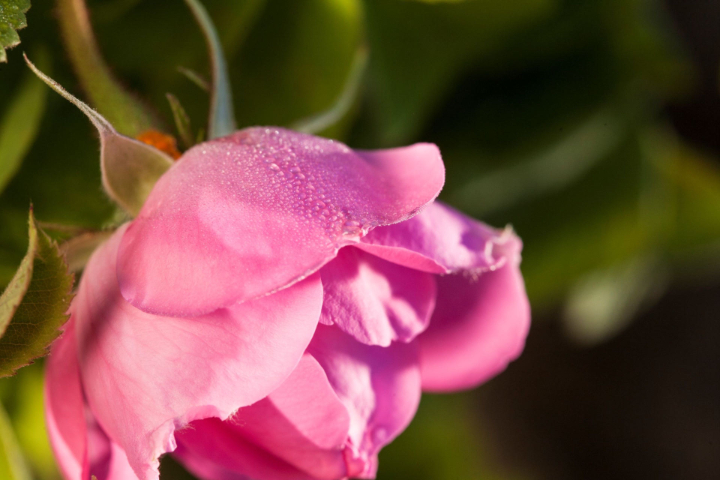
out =
<path fill-rule="evenodd" d="M 53 343 L 45 367 L 45 422 L 60 471 L 66 480 L 80 480 L 87 429 L 73 320 Z"/>

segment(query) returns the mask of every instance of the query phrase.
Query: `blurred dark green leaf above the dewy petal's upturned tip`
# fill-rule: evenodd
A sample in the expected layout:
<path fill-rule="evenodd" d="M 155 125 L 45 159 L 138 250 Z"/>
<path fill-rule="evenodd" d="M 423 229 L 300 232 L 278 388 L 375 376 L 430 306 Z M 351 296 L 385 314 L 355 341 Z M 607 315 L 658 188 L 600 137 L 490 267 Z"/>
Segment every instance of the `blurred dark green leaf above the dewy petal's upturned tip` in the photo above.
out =
<path fill-rule="evenodd" d="M 368 0 L 378 141 L 396 145 L 418 134 L 463 69 L 479 59 L 490 63 L 513 35 L 552 14 L 558 3 Z"/>

